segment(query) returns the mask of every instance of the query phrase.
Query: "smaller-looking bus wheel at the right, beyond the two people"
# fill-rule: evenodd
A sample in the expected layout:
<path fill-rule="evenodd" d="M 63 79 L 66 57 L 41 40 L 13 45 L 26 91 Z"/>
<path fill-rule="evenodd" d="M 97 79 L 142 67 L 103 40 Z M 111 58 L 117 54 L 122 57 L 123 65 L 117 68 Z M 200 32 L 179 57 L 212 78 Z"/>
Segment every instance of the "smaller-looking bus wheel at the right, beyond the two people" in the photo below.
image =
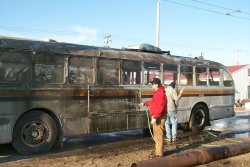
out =
<path fill-rule="evenodd" d="M 198 104 L 192 109 L 189 120 L 189 129 L 192 132 L 202 131 L 207 123 L 208 114 L 204 105 Z"/>

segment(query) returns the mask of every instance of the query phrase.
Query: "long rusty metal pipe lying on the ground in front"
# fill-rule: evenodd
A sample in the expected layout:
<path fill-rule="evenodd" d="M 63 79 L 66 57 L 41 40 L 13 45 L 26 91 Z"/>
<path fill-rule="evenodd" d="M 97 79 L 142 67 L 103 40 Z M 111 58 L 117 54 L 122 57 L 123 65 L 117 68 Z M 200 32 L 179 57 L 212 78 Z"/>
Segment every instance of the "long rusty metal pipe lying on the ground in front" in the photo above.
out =
<path fill-rule="evenodd" d="M 133 163 L 131 167 L 191 167 L 248 152 L 250 152 L 250 141 L 221 147 L 202 148 L 191 152 L 139 161 Z"/>

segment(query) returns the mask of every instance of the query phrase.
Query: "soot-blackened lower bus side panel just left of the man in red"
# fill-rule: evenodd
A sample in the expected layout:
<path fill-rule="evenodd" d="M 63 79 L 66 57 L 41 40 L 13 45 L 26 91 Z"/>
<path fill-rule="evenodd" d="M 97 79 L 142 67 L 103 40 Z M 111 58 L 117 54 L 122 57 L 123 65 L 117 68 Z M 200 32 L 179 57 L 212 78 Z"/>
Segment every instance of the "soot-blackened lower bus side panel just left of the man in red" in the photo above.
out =
<path fill-rule="evenodd" d="M 89 133 L 146 127 L 146 113 L 138 110 L 136 91 L 124 89 L 92 90 Z"/>

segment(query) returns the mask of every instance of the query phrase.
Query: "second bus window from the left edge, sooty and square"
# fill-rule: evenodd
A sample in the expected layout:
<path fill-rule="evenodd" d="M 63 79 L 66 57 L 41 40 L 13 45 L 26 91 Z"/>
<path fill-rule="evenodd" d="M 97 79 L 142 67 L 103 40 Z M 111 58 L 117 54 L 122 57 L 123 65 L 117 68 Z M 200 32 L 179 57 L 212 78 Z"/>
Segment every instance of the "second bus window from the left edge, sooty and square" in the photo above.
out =
<path fill-rule="evenodd" d="M 38 83 L 64 82 L 64 56 L 58 54 L 37 53 L 35 55 L 33 80 Z"/>

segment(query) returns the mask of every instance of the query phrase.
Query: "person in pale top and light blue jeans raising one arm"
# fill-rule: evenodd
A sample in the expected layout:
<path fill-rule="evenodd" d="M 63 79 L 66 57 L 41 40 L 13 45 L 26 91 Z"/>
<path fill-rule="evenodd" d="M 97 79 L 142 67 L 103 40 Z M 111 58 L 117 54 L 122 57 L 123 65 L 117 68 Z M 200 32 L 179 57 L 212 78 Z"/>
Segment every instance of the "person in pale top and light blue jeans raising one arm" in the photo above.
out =
<path fill-rule="evenodd" d="M 165 89 L 166 96 L 168 99 L 167 103 L 167 118 L 165 122 L 165 129 L 166 129 L 166 137 L 167 141 L 175 142 L 176 136 L 177 136 L 177 102 L 181 98 L 181 95 L 183 93 L 185 87 L 182 88 L 180 91 L 180 94 L 177 96 L 176 90 L 175 90 L 175 83 L 171 82 L 168 87 Z M 170 124 L 172 124 L 172 130 L 170 128 Z"/>

